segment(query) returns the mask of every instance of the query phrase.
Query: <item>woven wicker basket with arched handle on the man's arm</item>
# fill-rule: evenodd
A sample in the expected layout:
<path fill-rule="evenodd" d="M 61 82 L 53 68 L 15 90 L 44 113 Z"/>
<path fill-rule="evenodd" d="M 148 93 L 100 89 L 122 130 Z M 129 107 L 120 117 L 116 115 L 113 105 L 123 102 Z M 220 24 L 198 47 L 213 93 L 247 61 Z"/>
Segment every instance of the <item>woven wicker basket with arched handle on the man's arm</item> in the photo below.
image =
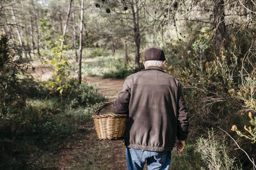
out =
<path fill-rule="evenodd" d="M 105 114 L 99 115 L 100 110 L 113 104 L 113 102 L 103 103 L 95 115 L 92 116 L 95 124 L 97 136 L 102 140 L 118 140 L 124 139 L 124 131 L 127 122 L 127 115 L 125 114 Z"/>

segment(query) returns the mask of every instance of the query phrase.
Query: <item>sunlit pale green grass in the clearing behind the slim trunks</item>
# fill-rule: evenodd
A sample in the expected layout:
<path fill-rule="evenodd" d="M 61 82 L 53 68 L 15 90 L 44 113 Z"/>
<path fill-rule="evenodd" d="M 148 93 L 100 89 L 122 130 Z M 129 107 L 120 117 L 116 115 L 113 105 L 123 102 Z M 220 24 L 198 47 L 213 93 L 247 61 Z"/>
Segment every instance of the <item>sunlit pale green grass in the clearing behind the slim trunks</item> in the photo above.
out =
<path fill-rule="evenodd" d="M 100 48 L 84 48 L 82 59 L 83 76 L 104 76 L 104 78 L 126 78 L 129 74 L 134 73 L 132 64 L 125 66 L 124 52 L 116 50 L 115 55 L 110 55 L 108 50 Z M 52 59 L 52 50 L 45 50 L 42 60 L 38 62 L 37 57 L 33 56 L 33 66 L 48 66 Z M 70 76 L 77 76 L 78 63 L 74 50 L 63 51 L 63 59 L 68 60 Z"/>

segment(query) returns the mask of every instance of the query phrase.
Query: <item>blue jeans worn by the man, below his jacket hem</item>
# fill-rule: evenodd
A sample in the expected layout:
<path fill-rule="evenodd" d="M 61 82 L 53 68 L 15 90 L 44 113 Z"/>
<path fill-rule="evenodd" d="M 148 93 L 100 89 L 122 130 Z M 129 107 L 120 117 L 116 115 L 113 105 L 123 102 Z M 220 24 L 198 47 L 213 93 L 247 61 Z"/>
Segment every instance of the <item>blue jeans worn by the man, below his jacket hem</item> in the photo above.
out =
<path fill-rule="evenodd" d="M 126 161 L 128 170 L 143 170 L 147 160 L 147 167 L 149 169 L 168 170 L 171 160 L 172 152 L 152 152 L 146 150 L 136 150 L 126 148 Z"/>

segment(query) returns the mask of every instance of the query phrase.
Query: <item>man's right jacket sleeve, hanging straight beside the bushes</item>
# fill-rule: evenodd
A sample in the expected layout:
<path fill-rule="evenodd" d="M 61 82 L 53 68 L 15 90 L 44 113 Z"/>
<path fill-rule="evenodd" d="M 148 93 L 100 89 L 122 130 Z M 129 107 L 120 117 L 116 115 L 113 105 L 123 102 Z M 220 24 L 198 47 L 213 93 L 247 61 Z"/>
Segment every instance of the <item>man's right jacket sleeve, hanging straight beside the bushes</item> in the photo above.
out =
<path fill-rule="evenodd" d="M 178 127 L 177 127 L 177 138 L 179 140 L 185 140 L 188 137 L 188 110 L 186 108 L 186 103 L 184 100 L 184 95 L 182 92 L 182 87 L 179 83 L 178 87 L 178 113 L 177 113 L 177 120 L 178 120 Z"/>

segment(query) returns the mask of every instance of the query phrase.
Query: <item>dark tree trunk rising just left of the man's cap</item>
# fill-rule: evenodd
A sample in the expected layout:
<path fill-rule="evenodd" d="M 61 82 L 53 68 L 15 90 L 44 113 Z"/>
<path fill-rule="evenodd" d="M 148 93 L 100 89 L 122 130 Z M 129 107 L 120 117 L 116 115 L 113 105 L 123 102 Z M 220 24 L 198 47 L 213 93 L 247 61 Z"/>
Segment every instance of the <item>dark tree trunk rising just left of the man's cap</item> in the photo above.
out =
<path fill-rule="evenodd" d="M 139 24 L 139 8 L 138 0 L 135 0 L 136 12 L 134 10 L 134 0 L 131 0 L 133 31 L 135 41 L 135 71 L 140 71 L 140 24 Z"/>

